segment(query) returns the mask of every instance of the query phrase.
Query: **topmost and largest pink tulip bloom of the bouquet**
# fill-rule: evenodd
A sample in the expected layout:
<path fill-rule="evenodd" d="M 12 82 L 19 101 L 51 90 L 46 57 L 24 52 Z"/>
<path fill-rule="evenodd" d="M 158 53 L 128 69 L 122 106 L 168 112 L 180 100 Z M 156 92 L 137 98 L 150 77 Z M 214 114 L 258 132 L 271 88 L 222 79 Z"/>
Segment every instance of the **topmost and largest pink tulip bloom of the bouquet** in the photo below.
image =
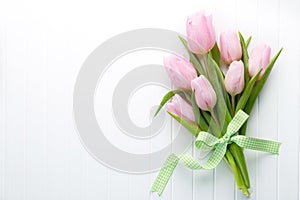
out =
<path fill-rule="evenodd" d="M 216 42 L 216 33 L 212 25 L 212 16 L 198 12 L 188 16 L 186 33 L 189 49 L 196 54 L 206 54 Z"/>

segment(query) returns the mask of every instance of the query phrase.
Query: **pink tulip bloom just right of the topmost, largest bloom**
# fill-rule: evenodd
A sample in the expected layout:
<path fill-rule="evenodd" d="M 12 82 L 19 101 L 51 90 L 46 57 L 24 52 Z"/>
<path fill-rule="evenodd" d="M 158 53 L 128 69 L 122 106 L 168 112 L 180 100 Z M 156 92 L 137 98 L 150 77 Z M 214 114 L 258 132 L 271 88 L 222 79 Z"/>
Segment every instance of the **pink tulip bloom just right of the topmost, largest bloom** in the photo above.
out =
<path fill-rule="evenodd" d="M 226 31 L 220 34 L 220 52 L 226 64 L 242 58 L 240 38 L 235 31 Z"/>

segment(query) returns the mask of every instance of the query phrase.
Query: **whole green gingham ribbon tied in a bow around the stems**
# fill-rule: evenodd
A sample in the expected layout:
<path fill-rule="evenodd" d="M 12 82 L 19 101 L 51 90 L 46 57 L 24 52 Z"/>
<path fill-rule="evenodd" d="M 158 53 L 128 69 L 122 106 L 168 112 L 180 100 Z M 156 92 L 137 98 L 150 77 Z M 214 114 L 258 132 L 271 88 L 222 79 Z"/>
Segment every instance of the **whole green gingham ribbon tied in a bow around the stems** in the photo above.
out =
<path fill-rule="evenodd" d="M 238 113 L 233 117 L 227 127 L 227 131 L 222 138 L 217 138 L 211 133 L 201 131 L 195 141 L 195 145 L 200 150 L 211 150 L 214 149 L 214 152 L 208 159 L 208 161 L 201 166 L 191 155 L 181 154 L 176 156 L 171 154 L 160 170 L 152 188 L 151 192 L 157 192 L 158 195 L 161 195 L 164 191 L 175 167 L 180 161 L 186 167 L 193 170 L 202 170 L 202 169 L 213 169 L 215 168 L 223 159 L 227 145 L 234 142 L 240 147 L 246 149 L 252 149 L 257 151 L 264 151 L 273 154 L 279 153 L 279 142 L 263 140 L 257 138 L 246 137 L 243 135 L 238 135 L 238 130 L 242 127 L 245 121 L 248 119 L 247 115 L 242 110 L 239 110 Z"/>

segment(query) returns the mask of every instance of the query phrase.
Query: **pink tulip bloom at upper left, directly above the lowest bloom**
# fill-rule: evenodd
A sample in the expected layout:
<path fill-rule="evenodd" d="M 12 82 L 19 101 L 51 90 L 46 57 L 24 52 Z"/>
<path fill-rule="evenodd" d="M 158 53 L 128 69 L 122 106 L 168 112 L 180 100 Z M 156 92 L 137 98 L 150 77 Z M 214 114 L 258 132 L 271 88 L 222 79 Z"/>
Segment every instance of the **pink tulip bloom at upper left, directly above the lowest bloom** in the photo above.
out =
<path fill-rule="evenodd" d="M 170 55 L 164 58 L 164 66 L 175 87 L 191 88 L 191 80 L 197 77 L 197 72 L 188 60 Z"/>

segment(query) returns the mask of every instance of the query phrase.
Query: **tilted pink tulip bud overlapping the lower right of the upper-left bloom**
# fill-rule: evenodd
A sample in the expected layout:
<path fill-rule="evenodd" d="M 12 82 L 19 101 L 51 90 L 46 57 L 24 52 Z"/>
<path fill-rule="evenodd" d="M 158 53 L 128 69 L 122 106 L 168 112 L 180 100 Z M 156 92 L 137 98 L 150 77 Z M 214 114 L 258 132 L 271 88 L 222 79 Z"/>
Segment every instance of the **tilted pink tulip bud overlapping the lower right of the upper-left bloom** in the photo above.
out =
<path fill-rule="evenodd" d="M 205 76 L 201 75 L 192 80 L 191 86 L 195 90 L 195 99 L 199 108 L 212 111 L 217 103 L 217 95 Z"/>

